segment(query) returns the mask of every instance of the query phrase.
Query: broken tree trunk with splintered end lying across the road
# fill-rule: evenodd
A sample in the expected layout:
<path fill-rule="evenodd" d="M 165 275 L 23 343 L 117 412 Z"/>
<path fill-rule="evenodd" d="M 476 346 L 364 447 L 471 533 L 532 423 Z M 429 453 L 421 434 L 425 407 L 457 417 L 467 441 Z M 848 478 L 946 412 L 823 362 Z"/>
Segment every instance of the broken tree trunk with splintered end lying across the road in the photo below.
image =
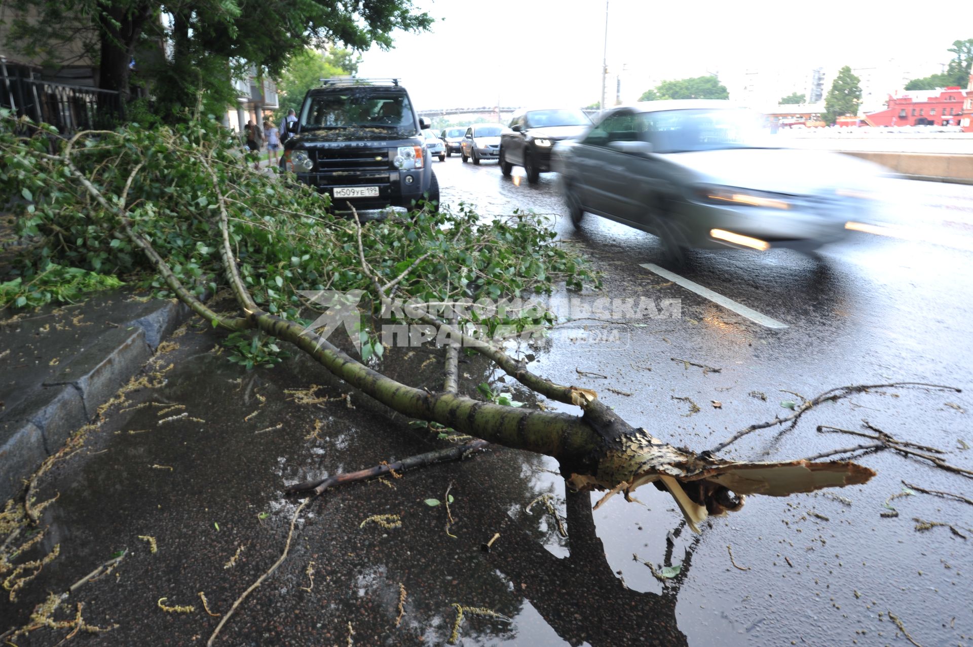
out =
<path fill-rule="evenodd" d="M 874 475 L 868 468 L 842 461 L 738 462 L 718 458 L 707 451 L 697 453 L 673 447 L 656 437 L 655 432 L 634 427 L 623 420 L 605 406 L 594 391 L 559 385 L 535 376 L 526 371 L 523 362 L 514 360 L 501 349 L 488 344 L 474 346 L 474 349 L 535 392 L 575 405 L 580 408 L 581 414 L 531 411 L 474 400 L 456 392 L 455 376 L 451 373 L 446 387 L 440 392 L 429 392 L 384 376 L 350 357 L 341 348 L 304 325 L 272 313 L 258 304 L 259 300 L 254 298 L 247 281 L 241 278 L 241 274 L 245 272 L 241 272 L 241 264 L 234 252 L 234 245 L 238 244 L 242 234 L 232 231 L 231 228 L 237 227 L 240 222 L 252 222 L 260 231 L 272 232 L 272 229 L 265 222 L 267 219 L 252 210 L 231 204 L 224 188 L 242 190 L 233 189 L 235 185 L 228 179 L 229 176 L 220 175 L 250 171 L 236 168 L 225 160 L 218 167 L 213 162 L 215 158 L 211 157 L 214 155 L 212 150 L 203 150 L 200 145 L 194 151 L 188 148 L 189 144 L 185 141 L 173 140 L 172 146 L 182 147 L 179 148 L 180 155 L 183 156 L 181 161 L 195 161 L 198 164 L 194 167 L 200 178 L 197 190 L 201 191 L 199 187 L 204 185 L 207 186 L 207 191 L 211 190 L 204 196 L 208 197 L 208 209 L 200 209 L 198 213 L 186 213 L 181 217 L 190 223 L 187 230 L 208 233 L 207 242 L 203 245 L 207 250 L 219 250 L 224 274 L 222 284 L 231 288 L 239 314 L 227 316 L 216 313 L 203 305 L 194 292 L 187 288 L 186 283 L 195 280 L 195 277 L 192 273 L 187 273 L 179 258 L 163 258 L 153 245 L 156 238 L 150 234 L 151 229 L 148 233 L 140 233 L 139 227 L 136 227 L 136 223 L 129 216 L 129 188 L 140 173 L 147 172 L 147 164 L 150 163 L 146 161 L 148 158 L 126 158 L 126 165 L 119 165 L 119 161 L 131 154 L 125 147 L 120 147 L 118 159 L 111 166 L 114 168 L 119 165 L 120 168 L 130 170 L 126 173 L 124 189 L 109 191 L 104 184 L 108 180 L 103 177 L 94 178 L 103 166 L 94 167 L 90 171 L 92 176 L 89 177 L 71 158 L 71 148 L 82 136 L 84 133 L 75 135 L 60 155 L 37 154 L 36 157 L 47 164 L 56 176 L 73 178 L 77 183 L 75 188 L 93 198 L 105 214 L 104 217 L 92 218 L 91 222 L 112 236 L 128 241 L 132 249 L 144 253 L 181 301 L 214 326 L 232 331 L 260 331 L 294 344 L 335 376 L 399 413 L 437 422 L 490 443 L 553 456 L 559 461 L 561 473 L 570 485 L 579 490 L 607 490 L 605 498 L 619 492 L 630 498 L 631 493 L 639 486 L 655 484 L 661 489 L 665 488 L 673 496 L 686 520 L 697 531 L 699 523 L 707 515 L 723 515 L 728 511 L 739 510 L 745 494 L 786 496 L 822 487 L 863 484 Z M 99 136 L 124 137 L 119 133 L 101 133 Z M 227 170 L 228 168 L 231 170 Z M 280 188 L 270 184 L 265 186 L 262 183 L 270 183 L 272 180 L 256 174 L 247 176 L 244 180 L 258 187 L 260 191 L 270 192 Z M 142 213 L 141 220 L 138 221 L 142 230 L 152 227 L 153 218 L 149 216 L 156 213 L 154 210 L 145 210 L 148 208 L 145 203 L 149 199 L 146 196 L 150 194 L 143 192 L 142 197 L 132 201 L 133 205 L 141 202 L 137 208 Z M 239 201 L 236 200 L 235 204 L 238 205 Z M 294 217 L 291 214 L 286 215 L 291 219 Z M 247 218 L 252 220 L 246 221 Z M 410 269 L 406 268 L 398 278 L 386 282 L 382 287 L 382 281 L 373 273 L 374 269 L 365 259 L 361 244 L 363 228 L 357 218 L 355 225 L 357 253 L 360 258 L 360 268 L 356 270 L 369 277 L 375 290 L 375 294 L 370 296 L 378 301 L 384 296 L 386 289 L 402 288 L 404 284 L 400 281 Z M 312 226 L 319 225 L 312 223 Z M 409 224 L 404 225 L 408 226 Z M 461 227 L 457 229 L 459 231 L 453 237 L 453 242 L 463 234 Z M 492 239 L 474 241 L 469 243 L 469 248 L 476 251 L 487 244 L 495 242 Z M 428 253 L 419 256 L 410 267 L 416 266 L 427 256 Z M 247 264 L 253 262 L 252 258 L 247 260 Z M 173 268 L 182 273 L 177 274 Z M 281 286 L 281 277 L 278 275 L 276 279 L 277 285 Z M 438 328 L 450 326 L 446 321 L 435 318 L 430 318 L 429 322 Z M 458 327 L 452 330 L 459 334 Z M 448 362 L 454 365 L 455 356 L 451 355 Z"/>

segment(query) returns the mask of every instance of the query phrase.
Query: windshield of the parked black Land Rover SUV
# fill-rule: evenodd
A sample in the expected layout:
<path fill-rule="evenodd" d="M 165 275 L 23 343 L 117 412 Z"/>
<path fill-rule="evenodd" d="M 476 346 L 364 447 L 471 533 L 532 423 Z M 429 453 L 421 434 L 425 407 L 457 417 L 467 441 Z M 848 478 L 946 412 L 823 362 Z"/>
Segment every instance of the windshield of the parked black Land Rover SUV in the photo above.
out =
<path fill-rule="evenodd" d="M 311 96 L 301 110 L 301 129 L 414 128 L 413 108 L 402 92 L 348 88 Z"/>

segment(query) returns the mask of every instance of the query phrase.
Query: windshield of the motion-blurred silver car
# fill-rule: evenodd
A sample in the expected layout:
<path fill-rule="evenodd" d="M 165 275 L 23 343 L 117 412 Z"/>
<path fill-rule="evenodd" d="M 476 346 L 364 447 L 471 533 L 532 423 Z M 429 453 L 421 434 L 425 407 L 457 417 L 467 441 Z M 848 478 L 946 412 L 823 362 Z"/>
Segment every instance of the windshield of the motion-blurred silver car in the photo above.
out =
<path fill-rule="evenodd" d="M 661 110 L 636 116 L 637 138 L 657 153 L 760 146 L 760 115 L 744 109 Z"/>

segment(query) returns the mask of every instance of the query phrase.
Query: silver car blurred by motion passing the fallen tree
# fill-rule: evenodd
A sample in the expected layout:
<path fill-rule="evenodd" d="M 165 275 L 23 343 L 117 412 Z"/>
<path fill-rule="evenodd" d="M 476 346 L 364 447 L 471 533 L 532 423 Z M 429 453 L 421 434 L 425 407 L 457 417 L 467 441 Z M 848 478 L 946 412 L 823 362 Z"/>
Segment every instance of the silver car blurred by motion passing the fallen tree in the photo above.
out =
<path fill-rule="evenodd" d="M 872 209 L 881 167 L 775 147 L 762 117 L 729 101 L 650 101 L 607 112 L 554 149 L 571 220 L 586 212 L 687 248 L 788 247 L 842 239 Z"/>

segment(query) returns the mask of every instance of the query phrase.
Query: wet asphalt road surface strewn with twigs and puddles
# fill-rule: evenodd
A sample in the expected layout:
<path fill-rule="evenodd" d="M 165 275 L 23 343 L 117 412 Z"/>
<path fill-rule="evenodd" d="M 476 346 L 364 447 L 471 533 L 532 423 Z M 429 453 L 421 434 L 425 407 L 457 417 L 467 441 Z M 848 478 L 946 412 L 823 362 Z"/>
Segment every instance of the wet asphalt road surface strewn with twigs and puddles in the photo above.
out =
<path fill-rule="evenodd" d="M 520 169 L 520 183 L 502 178 L 494 162 L 453 157 L 435 169 L 445 202 L 463 199 L 487 214 L 562 213 L 553 174 L 532 187 Z M 559 219 L 560 236 L 605 272 L 597 296 L 678 300 L 681 311 L 637 325 L 562 321 L 550 338 L 523 349 L 534 357 L 531 368 L 595 389 L 630 422 L 691 449 L 789 413 L 781 401 L 835 386 L 951 384 L 963 392 L 881 389 L 822 405 L 796 429 L 752 434 L 726 455 L 785 459 L 854 446 L 863 439 L 815 433 L 815 426 L 861 430 L 866 418 L 971 469 L 973 451 L 963 448 L 973 446 L 966 296 L 973 187 L 889 181 L 886 195 L 883 222 L 896 227 L 888 231 L 912 239 L 854 234 L 813 258 L 697 252 L 682 269 L 665 266 L 648 234 L 591 216 L 575 231 Z M 647 263 L 788 327 L 747 320 L 639 267 Z M 286 485 L 442 445 L 364 397 L 352 394 L 350 409 L 341 397 L 347 387 L 303 358 L 240 374 L 208 327 L 191 327 L 174 341 L 178 347 L 154 367 L 172 365 L 165 383 L 131 394 L 91 436 L 89 453 L 55 468 L 43 486 L 41 498 L 60 498 L 45 514 L 51 530 L 42 548 L 60 543 L 61 554 L 18 605 L 3 597 L 0 629 L 25 623 L 45 592 L 65 590 L 127 549 L 117 575 L 80 587 L 69 598 L 72 611 L 58 616 L 72 617 L 74 602 L 83 601 L 87 622 L 118 629 L 72 639 L 204 644 L 218 619 L 205 615 L 198 592 L 223 613 L 270 567 L 299 503 L 283 495 Z M 432 349 L 392 349 L 386 364 L 411 384 L 439 387 L 440 356 Z M 476 361 L 461 373 L 469 389 L 498 377 Z M 320 388 L 302 404 L 294 391 L 312 384 Z M 498 383 L 506 387 L 531 402 L 518 386 Z M 160 415 L 162 404 L 186 409 Z M 132 409 L 138 405 L 145 406 Z M 201 421 L 161 423 L 180 412 Z M 970 498 L 970 479 L 889 451 L 860 462 L 878 472 L 867 485 L 750 497 L 739 513 L 708 522 L 702 535 L 685 528 L 671 499 L 653 488 L 638 491 L 642 505 L 616 497 L 593 514 L 587 495 L 565 493 L 552 461 L 506 449 L 340 487 L 306 508 L 291 555 L 216 644 L 441 645 L 450 638 L 452 603 L 509 619 L 467 614 L 462 645 L 909 644 L 889 612 L 924 647 L 973 644 L 973 507 L 922 493 L 888 499 L 902 492 L 903 480 Z M 447 534 L 445 507 L 423 503 L 444 499 L 448 487 L 455 537 Z M 545 493 L 570 540 L 542 503 L 524 512 Z M 898 517 L 881 516 L 886 503 Z M 400 515 L 402 526 L 361 526 L 378 514 Z M 919 531 L 914 519 L 953 524 L 958 534 L 943 525 Z M 493 532 L 501 537 L 485 554 L 480 545 Z M 154 536 L 158 553 L 139 535 Z M 664 584 L 644 561 L 681 565 L 681 572 Z M 397 626 L 400 585 L 406 601 Z M 162 596 L 196 611 L 163 612 Z M 65 633 L 39 629 L 15 642 L 52 645 Z"/>

